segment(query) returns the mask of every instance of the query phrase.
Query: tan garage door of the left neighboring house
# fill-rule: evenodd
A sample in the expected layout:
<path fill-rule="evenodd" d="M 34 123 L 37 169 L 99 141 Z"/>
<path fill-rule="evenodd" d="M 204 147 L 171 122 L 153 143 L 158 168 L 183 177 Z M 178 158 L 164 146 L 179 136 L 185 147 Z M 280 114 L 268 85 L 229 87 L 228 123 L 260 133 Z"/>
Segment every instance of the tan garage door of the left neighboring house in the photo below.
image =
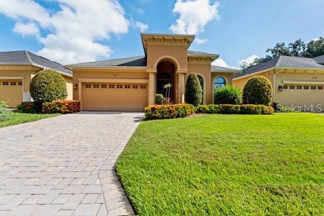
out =
<path fill-rule="evenodd" d="M 8 102 L 10 107 L 17 107 L 22 102 L 22 80 L 0 79 L 0 101 Z"/>

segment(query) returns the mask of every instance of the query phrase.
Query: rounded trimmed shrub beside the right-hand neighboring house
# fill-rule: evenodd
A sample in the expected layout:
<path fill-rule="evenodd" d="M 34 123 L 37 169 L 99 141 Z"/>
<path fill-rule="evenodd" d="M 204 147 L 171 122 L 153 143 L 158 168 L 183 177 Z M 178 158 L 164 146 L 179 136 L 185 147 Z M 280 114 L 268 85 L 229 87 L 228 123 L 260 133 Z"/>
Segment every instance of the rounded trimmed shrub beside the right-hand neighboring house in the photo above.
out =
<path fill-rule="evenodd" d="M 252 76 L 243 89 L 244 104 L 269 106 L 272 99 L 272 85 L 264 76 Z"/>

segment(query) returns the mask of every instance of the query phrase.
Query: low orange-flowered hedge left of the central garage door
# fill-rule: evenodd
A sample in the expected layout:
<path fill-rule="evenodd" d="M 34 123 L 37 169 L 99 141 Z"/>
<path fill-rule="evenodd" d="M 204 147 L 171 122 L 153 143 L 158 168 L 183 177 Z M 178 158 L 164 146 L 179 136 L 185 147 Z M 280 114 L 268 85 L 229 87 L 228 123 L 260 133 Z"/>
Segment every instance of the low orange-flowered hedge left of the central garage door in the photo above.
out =
<path fill-rule="evenodd" d="M 74 113 L 80 111 L 80 102 L 72 100 L 58 100 L 52 102 L 43 103 L 43 113 Z"/>

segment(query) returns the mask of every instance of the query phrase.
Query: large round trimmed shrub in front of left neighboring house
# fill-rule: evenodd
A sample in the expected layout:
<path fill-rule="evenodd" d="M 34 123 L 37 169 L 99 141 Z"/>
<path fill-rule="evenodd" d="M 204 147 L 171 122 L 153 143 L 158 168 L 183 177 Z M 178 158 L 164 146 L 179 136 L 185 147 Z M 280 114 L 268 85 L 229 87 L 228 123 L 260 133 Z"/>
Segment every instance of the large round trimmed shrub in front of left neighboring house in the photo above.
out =
<path fill-rule="evenodd" d="M 66 83 L 63 76 L 54 70 L 42 70 L 31 79 L 30 96 L 36 104 L 64 100 L 67 96 Z"/>

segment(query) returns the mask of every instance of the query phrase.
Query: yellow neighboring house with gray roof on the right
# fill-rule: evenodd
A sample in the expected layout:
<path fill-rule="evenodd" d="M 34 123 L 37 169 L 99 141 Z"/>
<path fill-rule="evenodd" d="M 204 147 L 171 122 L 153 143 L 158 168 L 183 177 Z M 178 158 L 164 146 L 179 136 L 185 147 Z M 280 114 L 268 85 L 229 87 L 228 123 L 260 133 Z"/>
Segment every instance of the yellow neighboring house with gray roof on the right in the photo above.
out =
<path fill-rule="evenodd" d="M 324 56 L 302 58 L 279 56 L 235 74 L 233 85 L 243 89 L 253 75 L 267 77 L 273 88 L 272 101 L 281 105 L 310 106 L 324 110 Z"/>

